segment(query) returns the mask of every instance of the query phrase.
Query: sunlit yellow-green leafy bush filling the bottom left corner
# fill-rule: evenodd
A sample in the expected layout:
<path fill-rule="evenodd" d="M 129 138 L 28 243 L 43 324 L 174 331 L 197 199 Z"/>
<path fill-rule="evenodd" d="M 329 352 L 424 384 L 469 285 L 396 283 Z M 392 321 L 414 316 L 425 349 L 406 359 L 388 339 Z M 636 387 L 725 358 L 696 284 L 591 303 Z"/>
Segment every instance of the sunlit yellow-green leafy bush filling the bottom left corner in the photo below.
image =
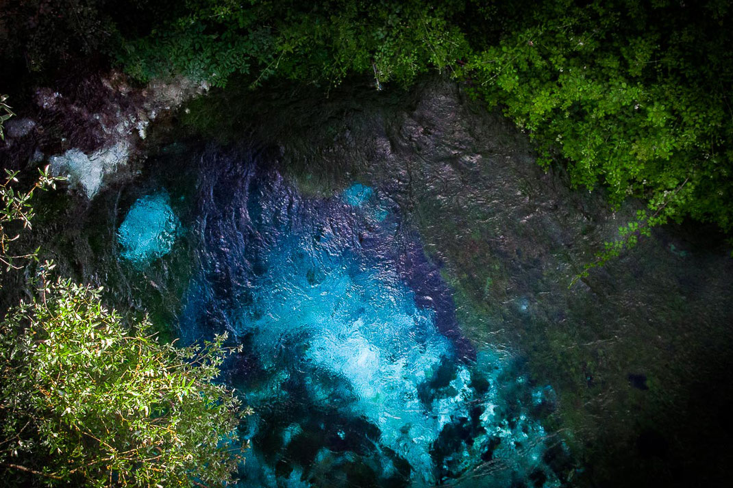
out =
<path fill-rule="evenodd" d="M 228 479 L 240 461 L 241 409 L 214 382 L 225 338 L 160 344 L 147 321 L 130 331 L 104 308 L 100 290 L 61 280 L 41 288 L 1 325 L 0 464 L 49 484 Z"/>

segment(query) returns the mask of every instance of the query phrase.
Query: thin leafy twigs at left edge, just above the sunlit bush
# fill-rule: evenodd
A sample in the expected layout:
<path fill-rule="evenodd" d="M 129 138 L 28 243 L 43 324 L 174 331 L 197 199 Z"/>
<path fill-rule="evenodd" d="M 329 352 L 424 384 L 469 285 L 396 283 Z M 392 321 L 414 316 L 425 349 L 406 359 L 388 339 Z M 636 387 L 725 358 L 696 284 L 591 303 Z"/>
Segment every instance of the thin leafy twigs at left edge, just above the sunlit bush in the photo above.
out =
<path fill-rule="evenodd" d="M 62 177 L 51 177 L 48 174 L 48 166 L 38 170 L 40 177 L 29 191 L 21 192 L 12 188 L 11 183 L 18 182 L 18 171 L 5 170 L 5 181 L 0 183 L 0 263 L 5 270 L 11 268 L 19 269 L 15 264 L 27 259 L 35 259 L 38 250 L 22 255 L 13 255 L 10 252 L 10 243 L 18 240 L 20 233 L 12 232 L 12 229 L 30 229 L 31 219 L 34 217 L 31 199 L 37 190 L 56 188 L 56 182 L 64 180 Z M 1 268 L 0 268 L 1 272 Z"/>

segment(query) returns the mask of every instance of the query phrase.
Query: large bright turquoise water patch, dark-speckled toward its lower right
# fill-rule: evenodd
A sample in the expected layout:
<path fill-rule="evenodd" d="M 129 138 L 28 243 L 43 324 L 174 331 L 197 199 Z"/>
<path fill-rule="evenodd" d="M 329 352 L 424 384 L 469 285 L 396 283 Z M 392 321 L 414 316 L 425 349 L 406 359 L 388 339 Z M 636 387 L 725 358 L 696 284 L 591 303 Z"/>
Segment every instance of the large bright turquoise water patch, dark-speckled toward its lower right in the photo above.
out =
<path fill-rule="evenodd" d="M 507 404 L 504 397 L 501 385 L 511 380 L 505 377 L 510 356 L 487 348 L 475 364 L 457 363 L 451 342 L 435 328 L 434 311 L 416 306 L 414 292 L 397 272 L 358 262 L 347 249 L 334 254 L 330 245 L 314 245 L 309 235 L 290 235 L 263 257 L 268 272 L 255 282 L 257 293 L 233 314 L 238 335 L 252 338 L 265 370 L 280 369 L 283 355 L 294 354 L 290 348 L 299 344 L 299 367 L 345 380 L 347 394 L 356 397 L 349 403 L 351 413 L 377 426 L 375 441 L 408 462 L 410 486 L 443 482 L 441 473 L 480 474 L 487 453 L 493 464 L 481 477 L 482 487 L 509 486 L 532 473 L 546 476 L 545 487 L 559 486 L 542 461 L 548 433 L 526 408 Z M 447 384 L 438 377 L 444 365 L 452 376 Z M 274 385 L 259 384 L 248 400 L 257 409 L 291 380 L 280 374 Z M 479 380 L 490 385 L 488 391 L 477 391 Z M 514 381 L 526 388 L 524 377 Z M 307 388 L 317 404 L 335 401 L 334 391 L 318 382 Z M 263 396 L 263 391 L 270 393 Z M 512 410 L 517 411 L 509 415 Z M 476 425 L 468 427 L 471 415 Z M 441 438 L 443 432 L 460 437 L 469 431 L 470 441 L 458 441 L 452 453 L 436 456 L 439 444 L 457 442 Z M 302 433 L 300 426 L 288 426 L 282 433 L 284 446 Z M 336 435 L 345 438 L 342 429 Z M 335 462 L 333 456 L 329 452 L 328 463 Z M 380 462 L 388 478 L 394 466 L 390 459 Z M 245 479 L 262 479 L 263 467 L 252 469 Z M 293 473 L 301 486 L 303 471 Z M 292 473 L 281 481 L 284 486 L 295 482 Z"/>

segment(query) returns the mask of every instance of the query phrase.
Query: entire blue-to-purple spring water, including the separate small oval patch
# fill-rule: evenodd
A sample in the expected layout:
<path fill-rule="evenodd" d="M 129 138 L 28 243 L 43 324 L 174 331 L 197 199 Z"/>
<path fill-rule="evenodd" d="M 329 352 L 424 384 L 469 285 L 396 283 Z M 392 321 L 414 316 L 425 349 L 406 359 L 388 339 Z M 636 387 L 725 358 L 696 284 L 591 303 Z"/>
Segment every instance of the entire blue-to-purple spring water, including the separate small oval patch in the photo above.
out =
<path fill-rule="evenodd" d="M 567 454 L 541 423 L 552 388 L 463 336 L 439 265 L 388 199 L 358 183 L 309 199 L 257 158 L 203 161 L 180 334 L 245 345 L 224 374 L 255 411 L 241 486 L 561 484 Z M 151 228 L 169 232 L 157 198 L 125 221 L 146 210 L 148 225 L 121 228 L 139 232 L 135 256 L 160 255 L 143 251 Z"/>

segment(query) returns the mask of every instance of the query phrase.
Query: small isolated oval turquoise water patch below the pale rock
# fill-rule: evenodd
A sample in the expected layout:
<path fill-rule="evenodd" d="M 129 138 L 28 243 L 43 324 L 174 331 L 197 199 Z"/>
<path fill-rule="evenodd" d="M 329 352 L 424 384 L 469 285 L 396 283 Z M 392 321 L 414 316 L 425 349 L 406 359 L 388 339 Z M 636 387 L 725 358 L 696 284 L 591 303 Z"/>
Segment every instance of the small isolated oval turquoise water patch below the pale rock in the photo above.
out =
<path fill-rule="evenodd" d="M 168 254 L 180 223 L 165 191 L 138 199 L 117 229 L 121 256 L 137 267 Z"/>

